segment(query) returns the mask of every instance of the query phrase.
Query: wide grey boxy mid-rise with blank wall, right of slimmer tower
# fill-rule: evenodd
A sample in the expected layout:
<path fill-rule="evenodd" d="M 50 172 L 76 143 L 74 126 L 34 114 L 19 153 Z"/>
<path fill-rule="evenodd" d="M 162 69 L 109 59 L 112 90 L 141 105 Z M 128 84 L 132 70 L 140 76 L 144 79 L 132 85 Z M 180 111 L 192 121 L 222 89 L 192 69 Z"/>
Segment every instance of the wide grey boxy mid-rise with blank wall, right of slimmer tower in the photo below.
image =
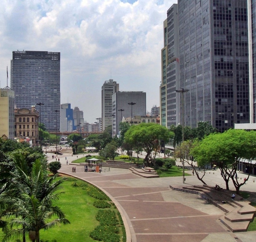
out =
<path fill-rule="evenodd" d="M 128 103 L 136 103 L 134 105 Z M 112 95 L 112 112 L 111 114 L 111 126 L 113 136 L 119 133 L 119 123 L 122 118 L 134 116 L 146 116 L 146 93 L 142 91 L 135 92 L 116 92 Z M 122 111 L 121 111 L 122 110 Z M 112 125 L 113 122 L 113 125 Z"/>

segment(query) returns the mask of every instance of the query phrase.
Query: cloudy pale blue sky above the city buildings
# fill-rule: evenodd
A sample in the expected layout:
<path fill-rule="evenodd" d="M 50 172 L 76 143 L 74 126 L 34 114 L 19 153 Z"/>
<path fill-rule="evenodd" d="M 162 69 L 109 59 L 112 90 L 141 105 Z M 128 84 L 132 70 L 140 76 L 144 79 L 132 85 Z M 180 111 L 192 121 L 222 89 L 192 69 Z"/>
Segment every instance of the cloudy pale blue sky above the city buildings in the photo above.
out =
<path fill-rule="evenodd" d="M 0 86 L 6 87 L 12 51 L 61 52 L 61 104 L 79 107 L 84 121 L 101 117 L 101 87 L 109 79 L 119 91 L 146 92 L 150 112 L 160 105 L 163 21 L 173 3 L 2 0 Z"/>

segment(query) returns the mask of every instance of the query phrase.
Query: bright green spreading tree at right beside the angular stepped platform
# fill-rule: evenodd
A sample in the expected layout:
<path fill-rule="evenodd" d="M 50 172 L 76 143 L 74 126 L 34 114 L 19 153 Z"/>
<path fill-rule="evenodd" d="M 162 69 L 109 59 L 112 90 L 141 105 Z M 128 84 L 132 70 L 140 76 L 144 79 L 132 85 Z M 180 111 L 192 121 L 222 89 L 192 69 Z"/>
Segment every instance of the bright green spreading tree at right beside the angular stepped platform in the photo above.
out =
<path fill-rule="evenodd" d="M 236 193 L 239 194 L 240 187 L 245 181 L 237 180 L 237 166 L 241 159 L 247 159 L 248 166 L 256 157 L 256 132 L 245 130 L 227 130 L 224 133 L 210 134 L 205 137 L 191 154 L 198 165 L 207 163 L 216 164 L 223 174 L 226 189 L 229 190 L 229 180 L 233 181 Z M 247 180 L 250 174 L 247 176 Z"/>

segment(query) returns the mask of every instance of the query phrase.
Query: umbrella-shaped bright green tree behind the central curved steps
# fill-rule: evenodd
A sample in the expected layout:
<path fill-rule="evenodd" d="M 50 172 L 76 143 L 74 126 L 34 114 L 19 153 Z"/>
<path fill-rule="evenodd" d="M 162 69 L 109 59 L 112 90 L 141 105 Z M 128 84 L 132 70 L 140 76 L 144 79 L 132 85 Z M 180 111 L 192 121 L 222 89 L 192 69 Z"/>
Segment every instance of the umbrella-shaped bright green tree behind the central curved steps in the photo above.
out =
<path fill-rule="evenodd" d="M 152 152 L 155 153 L 159 150 L 160 141 L 168 141 L 174 136 L 174 133 L 166 129 L 166 127 L 154 123 L 142 123 L 139 125 L 133 125 L 125 133 L 125 142 L 129 143 L 132 146 L 135 146 L 137 143 L 142 144 L 143 149 L 147 152 L 145 161 L 148 166 L 150 161 L 154 164 L 152 158 Z"/>

